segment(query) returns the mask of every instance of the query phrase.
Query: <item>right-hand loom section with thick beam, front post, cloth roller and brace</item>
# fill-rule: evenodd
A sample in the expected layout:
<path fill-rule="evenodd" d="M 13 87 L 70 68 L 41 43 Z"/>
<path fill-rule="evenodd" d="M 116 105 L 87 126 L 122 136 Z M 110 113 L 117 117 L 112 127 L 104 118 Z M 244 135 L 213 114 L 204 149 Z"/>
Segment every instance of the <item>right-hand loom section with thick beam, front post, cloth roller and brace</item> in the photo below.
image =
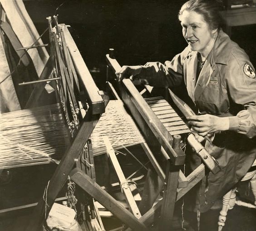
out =
<path fill-rule="evenodd" d="M 107 54 L 106 60 L 108 67 L 110 67 L 114 73 L 121 69 L 121 66 L 111 54 Z M 112 87 L 112 84 L 109 84 L 109 88 L 114 95 L 117 95 Z M 184 165 L 185 162 L 185 153 L 180 148 L 180 136 L 177 134 L 172 136 L 169 133 L 167 126 L 164 126 L 164 123 L 161 122 L 161 118 L 159 118 L 156 113 L 153 112 L 154 108 L 150 107 L 150 101 L 152 101 L 152 99 L 145 100 L 135 88 L 130 79 L 123 79 L 118 88 L 121 98 L 128 106 L 130 112 L 133 115 L 133 118 L 136 120 L 139 127 L 143 131 L 147 141 L 149 141 L 148 143 L 151 144 L 150 147 L 152 150 L 157 150 L 156 147 L 153 147 L 154 145 L 152 144 L 158 143 L 158 151 L 159 149 L 161 150 L 162 156 L 166 159 L 167 162 L 166 172 L 164 173 L 156 158 L 154 157 L 153 152 L 151 152 L 149 148 L 147 149 L 146 153 L 148 158 L 158 173 L 158 176 L 162 180 L 164 194 L 162 201 L 156 203 L 152 208 L 150 208 L 141 218 L 139 218 L 139 221 L 143 222 L 146 226 L 150 225 L 153 223 L 154 217 L 157 217 L 156 214 L 158 214 L 158 210 L 160 207 L 162 207 L 159 230 L 170 230 L 175 202 L 202 180 L 202 178 L 205 176 L 204 166 L 206 165 L 213 173 L 218 172 L 220 168 L 217 165 L 217 162 L 207 152 L 207 150 L 189 131 L 190 134 L 188 135 L 187 140 L 189 144 L 195 149 L 198 156 L 201 157 L 203 164 L 197 167 L 197 169 L 194 170 L 189 176 L 185 177 L 180 171 L 182 165 Z M 148 86 L 146 86 L 146 88 L 148 88 Z M 161 103 L 165 104 L 167 102 L 162 100 Z M 167 105 L 170 107 L 169 104 Z M 170 121 L 167 121 L 167 124 L 168 122 Z M 179 124 L 176 125 L 181 126 L 178 129 L 178 133 L 187 133 L 188 128 L 184 126 L 184 123 L 182 124 L 179 122 Z M 182 182 L 184 182 L 184 184 L 182 184 Z M 149 181 L 148 184 L 150 184 Z M 159 187 L 159 189 L 161 190 L 161 187 Z M 160 191 L 155 192 L 155 199 L 159 192 Z M 142 198 L 141 203 L 149 203 L 152 206 L 153 202 L 143 202 Z"/>

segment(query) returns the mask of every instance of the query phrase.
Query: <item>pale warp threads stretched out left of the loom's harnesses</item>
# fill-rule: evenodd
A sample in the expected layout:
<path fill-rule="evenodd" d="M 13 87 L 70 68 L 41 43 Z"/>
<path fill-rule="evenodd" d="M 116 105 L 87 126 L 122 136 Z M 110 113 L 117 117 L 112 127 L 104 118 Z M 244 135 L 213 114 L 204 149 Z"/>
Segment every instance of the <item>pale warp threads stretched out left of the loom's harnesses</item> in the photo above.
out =
<path fill-rule="evenodd" d="M 0 169 L 59 160 L 69 133 L 59 104 L 0 114 Z"/>

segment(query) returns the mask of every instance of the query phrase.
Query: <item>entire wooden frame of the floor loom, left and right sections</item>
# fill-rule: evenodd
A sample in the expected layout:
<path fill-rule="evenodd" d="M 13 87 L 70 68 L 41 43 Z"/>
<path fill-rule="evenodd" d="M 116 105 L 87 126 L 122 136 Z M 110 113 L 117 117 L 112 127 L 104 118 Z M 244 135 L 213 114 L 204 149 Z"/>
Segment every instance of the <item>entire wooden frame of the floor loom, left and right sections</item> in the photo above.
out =
<path fill-rule="evenodd" d="M 64 116 L 68 122 L 69 129 L 72 128 L 71 134 L 74 136 L 74 140 L 71 144 L 71 147 L 62 158 L 53 177 L 49 181 L 49 186 L 46 188 L 47 196 L 39 201 L 33 213 L 33 217 L 30 220 L 30 224 L 27 227 L 27 231 L 40 230 L 44 219 L 47 217 L 49 210 L 54 203 L 54 200 L 57 197 L 59 191 L 66 182 L 68 175 L 71 177 L 72 181 L 77 183 L 82 189 L 84 189 L 85 192 L 94 197 L 94 199 L 100 202 L 121 221 L 123 221 L 123 223 L 125 223 L 133 230 L 147 230 L 146 226 L 153 222 L 153 216 L 155 216 L 157 210 L 163 203 L 164 206 L 162 206 L 161 211 L 162 226 L 160 227 L 160 230 L 169 228 L 176 200 L 180 199 L 186 192 L 188 192 L 197 182 L 202 179 L 204 176 L 204 165 L 202 164 L 199 166 L 188 177 L 185 177 L 182 174 L 180 168 L 184 164 L 185 154 L 180 148 L 180 137 L 176 136 L 176 132 L 175 134 L 172 134 L 174 137 L 172 138 L 172 135 L 167 131 L 167 128 L 163 126 L 160 119 L 156 116 L 156 113 L 154 113 L 153 109 L 148 106 L 148 103 L 150 104 L 153 101 L 152 104 L 154 104 L 154 101 L 161 101 L 162 99 L 152 99 L 151 102 L 146 103 L 146 101 L 138 93 L 137 89 L 133 86 L 131 81 L 129 79 L 125 79 L 120 86 L 122 95 L 121 97 L 123 101 L 130 108 L 133 117 L 139 124 L 143 133 L 146 134 L 145 136 L 149 140 L 148 143 L 151 143 L 151 141 L 155 140 L 156 138 L 159 142 L 157 148 L 149 147 L 147 143 L 143 143 L 142 146 L 159 177 L 162 179 L 162 184 L 165 181 L 163 200 L 158 202 L 143 216 L 141 216 L 137 205 L 134 204 L 134 200 L 129 192 L 129 187 L 127 184 L 123 184 L 123 190 L 126 194 L 126 199 L 133 214 L 127 211 L 123 206 L 116 202 L 113 197 L 111 197 L 100 186 L 98 186 L 98 184 L 93 179 L 94 176 L 91 174 L 92 172 L 85 172 L 83 165 L 79 164 L 78 159 L 79 154 L 82 153 L 85 144 L 89 141 L 89 137 L 93 132 L 101 113 L 104 112 L 104 108 L 108 100 L 103 100 L 103 98 L 99 95 L 98 88 L 95 86 L 92 78 L 90 77 L 89 71 L 84 64 L 84 61 L 79 54 L 67 27 L 65 25 L 59 26 L 56 17 L 54 17 L 54 22 L 55 27 L 53 29 L 51 20 L 49 19 L 51 54 L 48 65 L 50 66 L 51 63 L 54 63 L 55 65 L 52 69 L 47 66 L 43 72 L 44 74 L 41 75 L 41 79 L 44 79 L 47 75 L 53 72 L 55 74 L 54 77 L 57 76 L 55 79 L 57 79 L 60 84 L 60 87 L 57 87 L 60 102 L 73 103 L 73 108 L 64 108 Z M 59 46 L 60 39 L 62 45 Z M 74 62 L 74 66 L 71 60 Z M 120 68 L 115 59 L 111 59 L 108 56 L 107 61 L 108 65 L 114 70 L 118 70 Z M 36 101 L 33 101 L 32 99 L 37 99 L 39 97 L 39 92 L 41 91 L 42 86 L 43 84 L 41 86 L 37 85 L 27 105 L 33 104 L 34 101 Z M 78 103 L 75 92 L 79 93 L 78 98 L 83 101 L 84 104 L 89 105 L 84 118 L 82 118 L 79 122 L 78 131 L 74 129 L 77 124 L 74 123 L 72 125 L 72 123 L 70 123 L 72 112 L 75 112 L 79 115 L 79 112 L 77 112 L 79 107 L 76 105 Z M 86 97 L 84 94 L 81 94 L 82 92 L 85 92 Z M 116 95 L 116 93 L 114 94 Z M 182 126 L 184 126 L 184 124 L 182 124 Z M 184 127 L 184 133 L 188 132 L 189 130 L 187 130 L 187 127 Z M 181 132 L 179 131 L 178 133 Z M 118 167 L 118 162 L 113 155 L 113 148 L 111 147 L 111 143 L 108 142 L 108 139 L 105 139 L 105 143 L 107 146 L 108 154 L 111 157 L 111 161 L 114 162 L 115 167 Z M 206 152 L 200 143 L 196 144 L 197 145 L 195 148 L 199 155 L 202 157 L 204 163 L 210 168 L 211 171 L 217 171 L 216 163 L 212 160 L 211 156 Z M 91 146 L 89 142 L 89 152 L 91 150 L 90 147 Z M 166 159 L 167 162 L 165 173 L 153 155 L 153 151 L 156 151 L 159 149 L 159 147 L 162 156 Z M 74 164 L 76 164 L 77 167 L 73 169 Z M 124 178 L 121 175 L 118 175 L 118 177 L 120 184 L 122 181 L 124 182 Z M 142 201 L 142 203 L 147 203 L 145 201 L 146 199 L 143 200 L 144 201 Z"/>

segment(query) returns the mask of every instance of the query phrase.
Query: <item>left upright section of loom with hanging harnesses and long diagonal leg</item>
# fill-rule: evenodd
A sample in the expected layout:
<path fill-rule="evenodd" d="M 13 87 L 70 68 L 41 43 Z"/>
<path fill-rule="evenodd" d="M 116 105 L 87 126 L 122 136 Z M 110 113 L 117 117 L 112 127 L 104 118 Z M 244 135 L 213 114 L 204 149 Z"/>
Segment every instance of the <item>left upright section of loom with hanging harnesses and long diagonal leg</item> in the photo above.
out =
<path fill-rule="evenodd" d="M 53 22 L 51 18 L 48 18 L 48 23 L 51 53 L 39 81 L 50 81 L 51 79 L 48 79 L 48 77 L 51 76 L 51 73 L 53 73 L 53 79 L 57 80 L 57 84 L 54 87 L 58 92 L 57 96 L 73 141 L 50 179 L 45 191 L 45 197 L 42 197 L 37 204 L 30 223 L 26 227 L 28 231 L 42 229 L 42 224 L 74 165 L 78 167 L 77 171 L 83 171 L 84 174 L 86 172 L 88 174 L 86 175 L 87 177 L 92 181 L 95 180 L 89 138 L 108 103 L 108 98 L 94 84 L 66 25 L 58 25 L 58 20 L 55 16 Z M 54 24 L 54 27 L 52 24 Z M 45 83 L 40 82 L 36 85 L 27 107 L 35 105 Z M 84 109 L 79 108 L 79 102 L 84 105 L 85 115 L 81 114 Z M 84 153 L 85 147 L 86 151 Z M 89 168 L 86 162 L 89 163 Z"/>

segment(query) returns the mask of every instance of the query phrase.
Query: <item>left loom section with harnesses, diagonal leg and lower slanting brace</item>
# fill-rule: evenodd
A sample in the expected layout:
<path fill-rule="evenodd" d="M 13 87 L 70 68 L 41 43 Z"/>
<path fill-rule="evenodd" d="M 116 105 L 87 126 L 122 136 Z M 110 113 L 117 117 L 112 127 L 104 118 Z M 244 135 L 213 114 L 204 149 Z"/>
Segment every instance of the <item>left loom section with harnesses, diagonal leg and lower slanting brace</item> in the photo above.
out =
<path fill-rule="evenodd" d="M 147 230 L 143 223 L 139 222 L 126 208 L 121 206 L 115 199 L 113 199 L 113 197 L 98 186 L 94 181 L 95 175 L 93 174 L 94 171 L 91 167 L 89 167 L 89 171 L 86 171 L 88 165 L 86 163 L 81 164 L 83 158 L 80 157 L 80 154 L 83 153 L 86 143 L 87 153 L 89 153 L 86 162 L 89 162 L 89 166 L 93 163 L 89 137 L 94 130 L 96 123 L 98 123 L 101 113 L 104 112 L 108 100 L 103 100 L 100 96 L 98 88 L 96 88 L 92 81 L 89 71 L 84 64 L 67 27 L 65 25 L 58 25 L 57 18 L 54 17 L 55 26 L 52 28 L 52 22 L 50 19 L 48 20 L 51 43 L 50 61 L 54 63 L 54 66 L 51 69 L 51 62 L 48 62 L 48 66 L 45 67 L 44 74 L 40 76 L 40 80 L 46 79 L 46 77 L 53 72 L 53 79 L 57 80 L 57 84 L 59 84 L 59 86 L 56 86 L 56 89 L 59 93 L 58 97 L 60 98 L 61 106 L 63 106 L 64 118 L 66 119 L 70 133 L 74 139 L 71 147 L 60 161 L 53 177 L 50 179 L 49 184 L 45 189 L 44 197 L 42 197 L 36 206 L 26 230 L 41 230 L 42 224 L 47 218 L 50 208 L 68 176 L 71 177 L 72 181 L 76 182 L 77 185 L 84 189 L 85 192 L 112 211 L 115 216 L 123 221 L 123 223 L 133 228 L 133 230 Z M 71 60 L 74 62 L 74 66 L 72 66 Z M 27 105 L 35 105 L 42 88 L 44 88 L 43 83 L 36 85 Z M 78 91 L 79 88 L 80 91 Z M 72 110 L 77 113 L 76 108 L 78 108 L 78 106 L 74 105 L 75 103 L 78 104 L 75 96 L 75 92 L 77 91 L 79 93 L 78 99 L 84 104 L 89 105 L 84 118 L 80 121 L 74 121 L 79 122 L 79 126 L 77 126 L 77 123 L 72 123 L 73 121 L 70 119 L 72 117 Z M 83 92 L 85 92 L 86 98 L 84 97 L 84 94 L 81 94 Z M 67 102 L 73 103 L 74 108 L 65 107 Z M 65 105 L 63 105 L 64 103 Z M 80 116 L 79 113 L 77 113 L 78 118 Z M 78 130 L 74 129 L 76 126 L 79 127 Z M 77 167 L 73 169 L 74 164 Z M 126 191 L 126 189 L 124 189 L 124 191 Z"/>

